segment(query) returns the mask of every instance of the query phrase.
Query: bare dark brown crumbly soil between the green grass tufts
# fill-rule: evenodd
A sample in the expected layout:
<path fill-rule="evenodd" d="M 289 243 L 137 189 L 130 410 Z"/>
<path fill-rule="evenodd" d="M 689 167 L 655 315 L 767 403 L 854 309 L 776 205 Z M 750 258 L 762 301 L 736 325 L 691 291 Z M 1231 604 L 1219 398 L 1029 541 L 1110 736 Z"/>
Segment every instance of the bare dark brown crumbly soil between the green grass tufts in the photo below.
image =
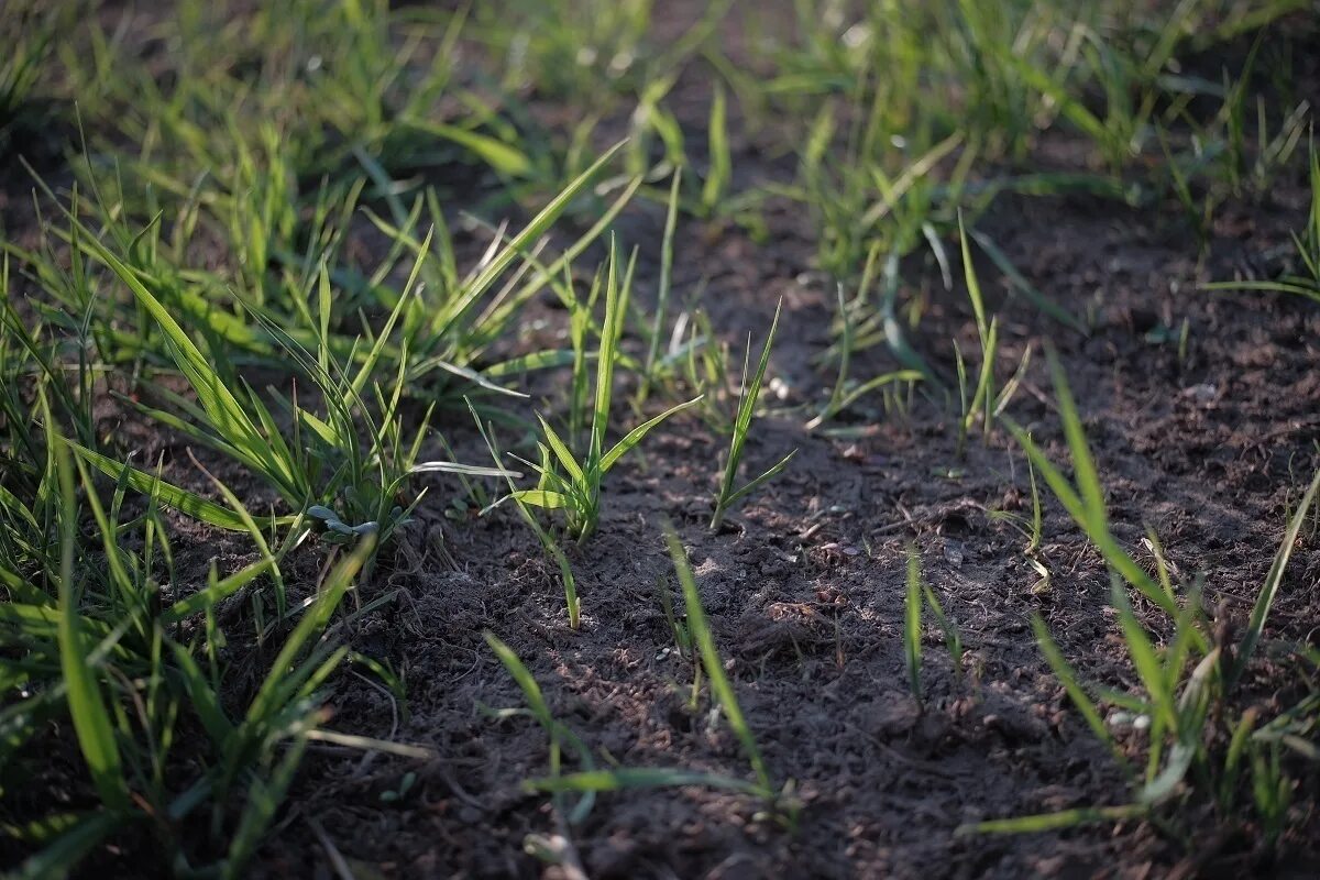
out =
<path fill-rule="evenodd" d="M 690 124 L 702 117 L 696 111 Z M 1043 149 L 1067 162 L 1067 137 L 1053 137 L 1060 142 Z M 734 164 L 739 179 L 783 174 L 755 141 L 739 144 Z M 15 203 L 24 185 L 8 175 L 4 182 L 7 203 Z M 1001 315 L 1005 363 L 1016 364 L 1027 346 L 1035 351 L 1012 417 L 1055 460 L 1067 460 L 1041 356 L 1048 342 L 1078 398 L 1115 533 L 1139 548 L 1152 528 L 1184 575 L 1205 574 L 1206 607 L 1238 623 L 1291 505 L 1320 467 L 1320 310 L 1298 298 L 1210 294 L 1197 285 L 1275 274 L 1300 223 L 1303 183 L 1298 172 L 1261 203 L 1228 206 L 1204 259 L 1172 206 L 1005 197 L 978 222 L 1036 288 L 1093 321 L 1089 335 L 1065 329 L 1008 296 L 989 263 L 978 264 Z M 767 220 L 771 241 L 763 244 L 734 226 L 682 224 L 676 297 L 704 280 L 713 322 L 735 351 L 748 330 L 764 332 L 783 297 L 770 372 L 789 408 L 818 401 L 829 381 L 814 359 L 830 342 L 834 292 L 812 267 L 814 244 L 800 215 L 772 208 Z M 655 288 L 661 224 L 655 206 L 626 220 L 627 239 L 644 248 L 639 297 Z M 975 350 L 965 292 L 961 284 L 946 292 L 935 267 L 919 260 L 904 277 L 904 297 L 929 297 L 911 342 L 952 373 L 950 340 Z M 556 319 L 549 305 L 537 309 Z M 1164 331 L 1184 321 L 1180 358 Z M 867 377 L 892 367 L 875 348 L 854 369 Z M 618 408 L 618 425 L 632 418 Z M 457 486 L 436 480 L 416 521 L 360 590 L 362 602 L 396 591 L 393 600 L 350 636 L 355 650 L 401 670 L 407 706 L 352 673 L 334 681 L 329 699 L 331 728 L 425 745 L 436 759 L 314 748 L 252 876 L 334 876 L 321 833 L 363 880 L 564 876 L 523 848 L 528 834 L 556 830 L 548 798 L 520 788 L 545 774 L 548 741 L 529 718 L 499 720 L 483 711 L 523 705 L 483 641 L 486 628 L 517 652 L 554 716 L 598 760 L 744 777 L 738 743 L 709 701 L 689 708 L 693 666 L 672 650 L 657 600 L 657 581 L 672 588 L 661 540 L 667 520 L 689 550 L 770 770 L 796 782 L 800 825 L 789 834 L 758 815 L 752 798 L 702 788 L 602 794 L 572 829 L 589 876 L 1317 876 L 1320 778 L 1302 767 L 1295 801 L 1305 821 L 1284 842 L 1282 863 L 1262 862 L 1209 806 L 1180 826 L 1196 829 L 1189 846 L 1170 829 L 1138 822 L 953 835 L 970 821 L 1129 797 L 1036 648 L 1034 612 L 1044 615 L 1084 679 L 1135 687 L 1100 555 L 1045 495 L 1040 558 L 1052 578 L 1040 587 L 1023 537 L 993 516 L 1030 511 L 1023 455 L 997 433 L 958 460 L 954 418 L 921 397 L 906 414 L 879 412 L 878 398 L 863 401 L 842 421 L 870 430 L 849 438 L 813 435 L 800 414 L 768 418 L 752 434 L 748 470 L 800 451 L 718 534 L 706 525 L 721 443 L 694 421 L 663 426 L 643 455 L 610 475 L 599 533 L 572 553 L 583 608 L 578 632 L 566 625 L 553 566 L 516 516 L 500 509 L 455 522 L 445 505 Z M 465 422 L 446 413 L 440 427 L 477 450 Z M 174 450 L 180 472 L 189 467 L 181 445 L 124 431 L 144 446 Z M 180 525 L 197 536 L 198 546 L 187 550 L 193 565 L 244 553 L 240 542 L 218 545 L 202 529 Z M 924 711 L 908 693 L 903 658 L 909 542 L 968 648 L 956 676 L 937 631 L 927 632 Z M 314 561 L 305 566 L 312 577 Z M 251 611 L 236 602 L 230 613 L 239 631 Z M 1320 544 L 1307 540 L 1266 641 L 1313 643 L 1317 620 Z M 1158 629 L 1159 615 L 1148 624 Z M 240 650 L 231 646 L 242 679 L 259 656 Z M 1295 669 L 1262 661 L 1253 676 L 1250 691 L 1262 703 L 1288 705 L 1303 693 Z M 404 797 L 383 800 L 407 773 L 416 784 Z M 90 864 L 88 873 L 141 869 L 141 856 L 129 846 L 120 859 Z"/>

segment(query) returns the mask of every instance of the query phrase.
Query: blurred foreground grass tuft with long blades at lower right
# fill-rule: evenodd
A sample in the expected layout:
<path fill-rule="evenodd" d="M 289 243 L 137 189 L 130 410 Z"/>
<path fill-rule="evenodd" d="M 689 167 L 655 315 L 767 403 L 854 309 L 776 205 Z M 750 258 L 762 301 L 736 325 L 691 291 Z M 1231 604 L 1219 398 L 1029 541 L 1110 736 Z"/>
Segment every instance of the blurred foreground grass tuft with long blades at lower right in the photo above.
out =
<path fill-rule="evenodd" d="M 1163 555 L 1158 551 L 1158 544 L 1155 545 L 1158 579 L 1152 579 L 1114 538 L 1104 513 L 1104 489 L 1072 392 L 1057 360 L 1052 359 L 1052 367 L 1059 413 L 1072 456 L 1076 486 L 1069 484 L 1020 427 L 1010 425 L 1010 430 L 1032 464 L 1040 470 L 1056 499 L 1110 567 L 1110 606 L 1117 613 L 1122 644 L 1144 694 L 1133 697 L 1106 690 L 1102 693 L 1102 699 L 1123 707 L 1130 712 L 1129 716 L 1144 719 L 1146 767 L 1144 770 L 1139 770 L 1129 764 L 1129 749 L 1110 732 L 1110 723 L 1102 715 L 1100 705 L 1078 679 L 1051 636 L 1048 625 L 1038 616 L 1032 621 L 1032 628 L 1041 652 L 1088 727 L 1109 747 L 1127 772 L 1134 794 L 1133 803 L 1056 815 L 997 819 L 964 826 L 962 831 L 1038 831 L 1090 821 L 1148 815 L 1159 810 L 1172 810 L 1201 792 L 1217 797 L 1214 806 L 1222 815 L 1232 815 L 1249 803 L 1265 830 L 1265 839 L 1272 844 L 1282 830 L 1280 822 L 1287 810 L 1292 782 L 1287 778 L 1280 761 L 1280 744 L 1253 732 L 1258 723 L 1257 711 L 1250 708 L 1234 718 L 1229 701 L 1253 662 L 1298 536 L 1316 495 L 1320 493 L 1320 472 L 1311 480 L 1287 524 L 1283 541 L 1257 592 L 1245 629 L 1236 644 L 1228 644 L 1212 632 L 1205 619 L 1201 608 L 1204 588 L 1201 583 L 1191 584 L 1185 598 L 1180 599 L 1168 577 Z M 1151 632 L 1138 619 L 1129 590 L 1164 613 L 1171 635 L 1163 646 L 1158 646 Z M 1250 756 L 1249 768 L 1243 767 L 1245 755 Z M 1250 774 L 1250 782 L 1245 781 L 1246 774 Z M 1249 801 L 1243 797 L 1242 788 L 1249 789 Z"/>

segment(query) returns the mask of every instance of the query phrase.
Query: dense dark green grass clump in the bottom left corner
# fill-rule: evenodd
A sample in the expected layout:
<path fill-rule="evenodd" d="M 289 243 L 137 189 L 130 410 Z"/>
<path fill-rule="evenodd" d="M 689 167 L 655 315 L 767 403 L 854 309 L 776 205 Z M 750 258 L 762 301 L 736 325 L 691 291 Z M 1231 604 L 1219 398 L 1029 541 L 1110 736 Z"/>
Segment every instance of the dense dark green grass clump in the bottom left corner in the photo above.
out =
<path fill-rule="evenodd" d="M 161 863 L 177 872 L 243 876 L 308 743 L 337 738 L 323 727 L 321 694 L 348 649 L 331 621 L 372 541 L 368 536 L 334 566 L 286 632 L 267 633 L 279 650 L 236 702 L 222 690 L 216 611 L 272 577 L 297 541 L 227 577 L 213 563 L 206 584 L 194 590 L 174 573 L 157 495 L 128 517 L 120 479 L 107 508 L 44 404 L 38 417 L 49 453 L 45 476 L 55 487 L 45 519 L 54 551 L 5 562 L 0 676 L 24 698 L 0 710 L 7 731 L 0 765 L 8 796 L 41 770 L 41 736 L 67 719 L 96 798 L 5 827 L 34 850 L 16 865 L 20 876 L 67 873 L 129 826 L 152 835 Z M 3 504 L 7 517 L 22 516 L 12 496 Z M 129 549 L 132 537 L 141 538 L 139 550 Z M 162 600 L 162 592 L 178 598 Z M 205 760 L 178 761 L 185 739 Z"/>

